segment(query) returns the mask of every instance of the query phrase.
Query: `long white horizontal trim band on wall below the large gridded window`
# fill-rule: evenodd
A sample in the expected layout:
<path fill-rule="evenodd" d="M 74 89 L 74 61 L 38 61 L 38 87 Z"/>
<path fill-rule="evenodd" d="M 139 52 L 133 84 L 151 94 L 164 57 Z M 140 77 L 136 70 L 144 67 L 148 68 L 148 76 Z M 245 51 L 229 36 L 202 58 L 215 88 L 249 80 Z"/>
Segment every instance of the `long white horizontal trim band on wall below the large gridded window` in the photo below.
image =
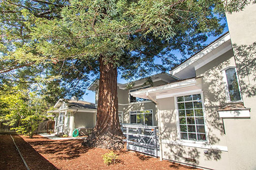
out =
<path fill-rule="evenodd" d="M 228 152 L 228 147 L 227 146 L 210 145 L 210 144 L 206 144 L 206 143 L 205 144 L 203 144 L 203 143 L 199 144 L 199 143 L 188 143 L 188 142 L 182 142 L 182 141 L 169 141 L 169 140 L 162 140 L 162 143 Z"/>

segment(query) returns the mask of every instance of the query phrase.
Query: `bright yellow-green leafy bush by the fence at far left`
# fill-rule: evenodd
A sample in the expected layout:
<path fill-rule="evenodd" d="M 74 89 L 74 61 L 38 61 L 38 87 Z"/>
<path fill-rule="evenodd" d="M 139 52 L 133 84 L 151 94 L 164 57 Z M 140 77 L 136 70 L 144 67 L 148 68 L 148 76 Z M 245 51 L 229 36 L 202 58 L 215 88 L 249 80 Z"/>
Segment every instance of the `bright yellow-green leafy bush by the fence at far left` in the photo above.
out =
<path fill-rule="evenodd" d="M 44 118 L 42 113 L 46 113 L 45 103 L 35 93 L 18 87 L 2 86 L 0 93 L 0 103 L 4 106 L 0 108 L 0 119 L 7 121 L 7 125 L 18 122 L 18 127 L 13 129 L 32 138 Z"/>

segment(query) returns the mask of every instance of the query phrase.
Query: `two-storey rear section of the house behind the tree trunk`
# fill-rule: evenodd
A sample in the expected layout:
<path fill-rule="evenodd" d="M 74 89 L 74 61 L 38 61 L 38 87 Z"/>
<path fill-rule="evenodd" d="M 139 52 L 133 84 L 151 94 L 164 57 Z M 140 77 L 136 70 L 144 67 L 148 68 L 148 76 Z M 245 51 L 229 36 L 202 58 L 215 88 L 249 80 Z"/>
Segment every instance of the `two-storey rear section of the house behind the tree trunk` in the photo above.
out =
<path fill-rule="evenodd" d="M 179 78 L 163 72 L 150 76 L 153 86 L 161 86 Z M 130 93 L 142 89 L 150 88 L 152 85 L 146 84 L 147 78 L 133 81 L 133 88 L 126 89 L 129 83 L 117 84 L 118 115 L 120 123 L 140 123 L 143 125 L 157 125 L 156 105 L 153 101 L 138 97 L 133 97 Z M 98 105 L 99 80 L 94 81 L 88 90 L 95 92 L 95 106 Z"/>

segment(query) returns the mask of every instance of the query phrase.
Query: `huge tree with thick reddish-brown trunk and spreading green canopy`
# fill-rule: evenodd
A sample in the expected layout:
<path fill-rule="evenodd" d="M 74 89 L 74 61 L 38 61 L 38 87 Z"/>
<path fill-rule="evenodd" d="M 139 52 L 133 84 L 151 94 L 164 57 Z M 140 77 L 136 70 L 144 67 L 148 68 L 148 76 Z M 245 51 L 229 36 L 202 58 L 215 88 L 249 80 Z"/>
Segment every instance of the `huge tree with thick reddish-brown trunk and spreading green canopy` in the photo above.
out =
<path fill-rule="evenodd" d="M 22 75 L 12 81 L 43 77 L 44 86 L 81 96 L 88 75 L 100 74 L 97 124 L 84 144 L 111 149 L 123 147 L 117 71 L 124 78 L 166 71 L 177 63 L 171 50 L 195 53 L 225 26 L 220 0 L 2 0 L 0 12 L 3 79 L 10 71 Z"/>

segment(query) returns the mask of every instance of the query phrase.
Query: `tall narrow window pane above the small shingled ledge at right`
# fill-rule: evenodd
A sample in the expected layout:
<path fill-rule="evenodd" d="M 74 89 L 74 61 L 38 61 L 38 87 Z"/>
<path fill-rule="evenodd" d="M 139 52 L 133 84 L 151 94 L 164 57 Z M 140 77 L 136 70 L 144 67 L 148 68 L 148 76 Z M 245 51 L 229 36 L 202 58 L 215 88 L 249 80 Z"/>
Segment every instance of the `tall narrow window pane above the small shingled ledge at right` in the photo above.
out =
<path fill-rule="evenodd" d="M 241 101 L 241 94 L 238 84 L 236 68 L 228 68 L 225 70 L 226 90 L 228 101 Z"/>

